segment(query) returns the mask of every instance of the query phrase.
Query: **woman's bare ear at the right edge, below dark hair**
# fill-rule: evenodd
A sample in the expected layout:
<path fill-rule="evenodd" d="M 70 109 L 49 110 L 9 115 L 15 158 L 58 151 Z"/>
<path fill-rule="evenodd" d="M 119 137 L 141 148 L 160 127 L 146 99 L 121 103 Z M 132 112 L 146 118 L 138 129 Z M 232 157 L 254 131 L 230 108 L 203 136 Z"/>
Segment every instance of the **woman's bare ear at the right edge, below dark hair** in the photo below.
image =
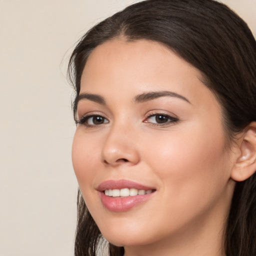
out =
<path fill-rule="evenodd" d="M 231 178 L 243 181 L 256 171 L 256 122 L 251 122 L 239 141 L 240 154 L 231 170 Z"/>

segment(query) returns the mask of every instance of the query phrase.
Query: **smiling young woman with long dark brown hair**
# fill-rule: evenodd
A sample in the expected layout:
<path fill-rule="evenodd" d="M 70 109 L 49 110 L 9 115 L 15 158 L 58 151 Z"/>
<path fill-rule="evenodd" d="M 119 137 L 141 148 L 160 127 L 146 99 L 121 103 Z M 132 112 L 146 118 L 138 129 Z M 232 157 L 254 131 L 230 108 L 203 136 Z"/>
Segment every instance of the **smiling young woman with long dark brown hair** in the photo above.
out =
<path fill-rule="evenodd" d="M 256 255 L 256 43 L 213 0 L 146 0 L 69 62 L 75 255 Z"/>

